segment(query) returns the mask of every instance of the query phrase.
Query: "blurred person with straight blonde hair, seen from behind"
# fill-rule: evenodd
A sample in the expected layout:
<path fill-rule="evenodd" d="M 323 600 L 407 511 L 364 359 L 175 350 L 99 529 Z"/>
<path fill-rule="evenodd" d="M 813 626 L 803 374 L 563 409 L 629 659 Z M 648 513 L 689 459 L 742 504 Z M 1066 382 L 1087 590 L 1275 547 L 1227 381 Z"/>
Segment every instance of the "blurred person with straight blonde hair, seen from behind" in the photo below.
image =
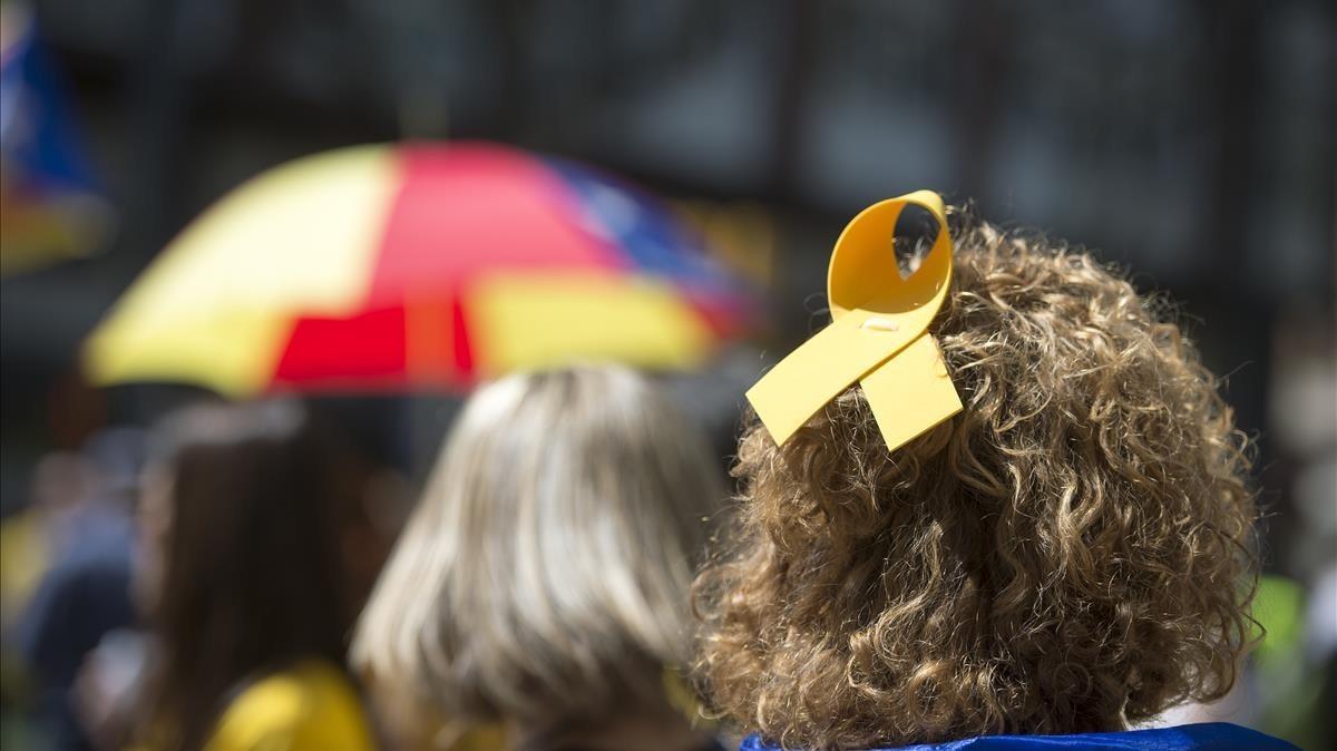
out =
<path fill-rule="evenodd" d="M 398 743 L 481 747 L 468 734 L 491 727 L 523 751 L 717 748 L 673 668 L 722 497 L 705 438 L 631 371 L 477 392 L 354 637 Z"/>

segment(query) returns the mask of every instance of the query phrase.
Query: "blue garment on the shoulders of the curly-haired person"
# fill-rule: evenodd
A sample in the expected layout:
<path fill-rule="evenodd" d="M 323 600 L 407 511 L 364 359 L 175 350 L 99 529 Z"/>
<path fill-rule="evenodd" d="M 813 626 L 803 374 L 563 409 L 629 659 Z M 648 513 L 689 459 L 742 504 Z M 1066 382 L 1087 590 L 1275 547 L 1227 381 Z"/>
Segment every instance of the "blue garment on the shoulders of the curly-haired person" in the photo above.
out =
<path fill-rule="evenodd" d="M 738 751 L 778 751 L 759 736 Z M 869 751 L 1300 751 L 1285 740 L 1229 723 L 1082 735 L 987 735 L 948 743 L 921 743 Z"/>

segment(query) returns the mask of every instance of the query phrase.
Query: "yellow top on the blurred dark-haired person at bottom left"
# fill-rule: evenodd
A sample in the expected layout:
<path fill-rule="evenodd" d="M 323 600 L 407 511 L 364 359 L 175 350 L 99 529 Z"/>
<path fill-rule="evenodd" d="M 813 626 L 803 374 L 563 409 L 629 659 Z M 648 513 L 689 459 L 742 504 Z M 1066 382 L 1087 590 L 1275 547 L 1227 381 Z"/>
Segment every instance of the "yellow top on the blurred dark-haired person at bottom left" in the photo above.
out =
<path fill-rule="evenodd" d="M 205 751 L 372 751 L 357 694 L 322 661 L 257 682 L 229 704 Z"/>

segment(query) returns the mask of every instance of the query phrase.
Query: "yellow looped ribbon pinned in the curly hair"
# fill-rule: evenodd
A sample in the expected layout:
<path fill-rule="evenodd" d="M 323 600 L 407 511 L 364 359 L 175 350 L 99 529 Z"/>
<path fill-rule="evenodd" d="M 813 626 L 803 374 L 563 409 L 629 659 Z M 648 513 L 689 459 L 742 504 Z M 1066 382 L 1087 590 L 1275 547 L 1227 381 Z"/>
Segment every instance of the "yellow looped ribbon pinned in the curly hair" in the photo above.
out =
<path fill-rule="evenodd" d="M 892 239 L 906 206 L 937 219 L 937 238 L 902 279 Z M 952 282 L 952 238 L 943 199 L 921 190 L 874 203 L 854 216 L 826 273 L 832 325 L 789 353 L 749 392 L 747 401 L 777 444 L 858 381 L 896 450 L 961 410 L 943 353 L 928 325 Z"/>

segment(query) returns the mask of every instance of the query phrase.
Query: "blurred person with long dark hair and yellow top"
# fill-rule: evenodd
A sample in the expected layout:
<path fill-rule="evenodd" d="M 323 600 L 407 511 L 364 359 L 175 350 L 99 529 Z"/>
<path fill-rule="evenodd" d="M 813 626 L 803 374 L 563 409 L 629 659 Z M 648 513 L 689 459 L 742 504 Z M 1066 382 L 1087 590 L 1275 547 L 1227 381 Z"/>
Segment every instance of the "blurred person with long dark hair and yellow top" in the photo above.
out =
<path fill-rule="evenodd" d="M 345 560 L 368 473 L 290 401 L 195 406 L 155 434 L 136 593 L 156 644 L 132 746 L 146 751 L 372 748 L 344 669 L 360 604 Z M 122 687 L 99 655 L 98 686 Z M 114 699 L 115 691 L 100 698 Z M 104 719 L 104 718 L 103 718 Z M 99 728 L 116 746 L 115 728 Z"/>

